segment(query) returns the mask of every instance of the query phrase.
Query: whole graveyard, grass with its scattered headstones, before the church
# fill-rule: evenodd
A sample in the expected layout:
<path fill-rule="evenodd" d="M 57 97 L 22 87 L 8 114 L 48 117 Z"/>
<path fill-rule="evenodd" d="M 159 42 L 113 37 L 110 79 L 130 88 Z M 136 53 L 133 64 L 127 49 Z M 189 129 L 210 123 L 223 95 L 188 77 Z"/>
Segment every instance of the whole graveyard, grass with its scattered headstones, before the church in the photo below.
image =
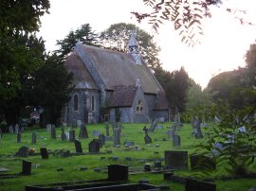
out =
<path fill-rule="evenodd" d="M 143 185 L 141 190 L 177 191 L 255 187 L 255 176 L 232 177 L 209 158 L 205 163 L 210 168 L 202 164 L 196 168 L 198 145 L 207 136 L 196 139 L 191 124 L 175 130 L 171 122 L 79 125 L 2 132 L 0 190 L 37 190 L 36 185 L 79 190 L 92 182 L 109 190 L 125 190 L 119 188 L 124 185 L 130 186 L 127 190 L 140 190 L 137 186 Z M 207 131 L 202 128 L 203 135 Z M 192 181 L 186 182 L 188 179 Z M 111 184 L 113 181 L 121 185 Z M 201 188 L 194 187 L 197 182 L 203 182 Z"/>

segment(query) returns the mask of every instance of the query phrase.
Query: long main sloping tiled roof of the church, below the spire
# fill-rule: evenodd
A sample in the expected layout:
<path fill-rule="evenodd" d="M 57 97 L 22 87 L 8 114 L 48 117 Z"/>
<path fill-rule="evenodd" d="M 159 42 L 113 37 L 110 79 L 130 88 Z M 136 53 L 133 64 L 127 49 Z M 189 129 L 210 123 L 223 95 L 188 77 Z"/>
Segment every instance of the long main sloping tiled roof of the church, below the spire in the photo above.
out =
<path fill-rule="evenodd" d="M 114 90 L 117 86 L 135 85 L 139 78 L 144 93 L 156 94 L 157 90 L 162 90 L 149 68 L 145 64 L 136 64 L 129 53 L 82 43 L 76 45 L 75 52 L 81 58 L 77 61 L 82 61 L 88 70 L 91 70 L 91 74 L 94 73 L 92 78 L 101 78 L 99 81 L 105 89 Z"/>

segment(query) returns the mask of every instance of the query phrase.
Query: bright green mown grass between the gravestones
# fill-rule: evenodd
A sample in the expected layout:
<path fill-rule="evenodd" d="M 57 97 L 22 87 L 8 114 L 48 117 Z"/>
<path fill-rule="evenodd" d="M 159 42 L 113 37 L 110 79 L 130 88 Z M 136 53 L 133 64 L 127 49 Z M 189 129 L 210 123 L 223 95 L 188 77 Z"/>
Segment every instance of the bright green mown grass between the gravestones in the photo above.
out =
<path fill-rule="evenodd" d="M 60 155 L 49 155 L 49 159 L 43 160 L 41 155 L 29 156 L 26 160 L 32 163 L 31 176 L 22 176 L 13 179 L 1 179 L 0 178 L 0 190 L 25 190 L 25 185 L 28 184 L 44 184 L 50 182 L 71 182 L 82 180 L 95 180 L 107 178 L 105 172 L 95 172 L 94 168 L 106 168 L 107 165 L 121 164 L 128 165 L 129 167 L 143 167 L 145 161 L 139 161 L 138 159 L 164 159 L 164 150 L 188 150 L 189 154 L 192 154 L 196 150 L 195 146 L 200 145 L 205 139 L 195 139 L 192 137 L 192 127 L 190 124 L 185 124 L 181 130 L 178 130 L 178 134 L 181 136 L 181 147 L 173 148 L 171 140 L 167 138 L 167 127 L 171 126 L 170 123 L 160 124 L 163 126 L 162 130 L 155 130 L 150 133 L 153 140 L 151 145 L 145 145 L 144 143 L 144 126 L 149 128 L 149 124 L 122 124 L 121 144 L 124 141 L 133 141 L 136 146 L 139 147 L 139 151 L 128 150 L 123 145 L 120 148 L 113 148 L 113 142 L 106 142 L 105 146 L 101 148 L 101 152 L 106 150 L 112 150 L 112 153 L 108 154 L 90 154 L 71 157 L 61 157 Z M 66 128 L 68 130 L 68 128 Z M 105 134 L 104 124 L 88 125 L 87 126 L 89 138 L 81 139 L 83 152 L 88 152 L 89 142 L 97 137 L 92 136 L 93 130 L 99 130 Z M 31 134 L 33 131 L 37 132 L 37 144 L 31 144 Z M 112 135 L 112 130 L 110 128 Z M 76 136 L 78 136 L 79 130 L 76 129 Z M 163 141 L 163 139 L 167 141 Z M 22 170 L 22 160 L 14 156 L 17 150 L 27 146 L 28 148 L 35 148 L 36 152 L 40 152 L 40 148 L 46 147 L 48 150 L 54 151 L 56 149 L 68 149 L 72 153 L 75 153 L 74 143 L 69 141 L 61 141 L 61 129 L 57 128 L 56 140 L 50 139 L 50 132 L 46 129 L 30 129 L 24 131 L 22 134 L 22 142 L 20 144 L 16 141 L 15 134 L 4 133 L 3 138 L 0 140 L 0 167 L 9 168 L 8 173 L 19 173 Z M 158 153 L 156 153 L 158 152 Z M 105 158 L 101 158 L 104 156 Z M 114 161 L 112 157 L 119 157 L 118 161 Z M 132 161 L 127 161 L 126 158 L 131 157 Z M 152 165 L 154 162 L 152 162 Z M 162 162 L 164 165 L 164 162 Z M 87 166 L 88 169 L 81 171 L 82 166 Z M 63 168 L 63 171 L 57 169 Z M 217 170 L 210 172 L 210 175 L 202 174 L 202 172 L 194 172 L 190 169 L 183 171 L 175 171 L 175 174 L 181 176 L 207 176 L 207 178 L 214 178 L 219 176 L 228 175 L 223 167 L 217 166 Z M 153 184 L 168 184 L 172 190 L 180 191 L 184 190 L 184 185 L 176 182 L 167 182 L 163 180 L 163 174 L 151 174 L 141 173 L 137 175 L 130 175 L 130 182 L 138 182 L 140 179 L 148 179 Z M 238 179 L 230 181 L 216 181 L 217 190 L 234 190 L 244 191 L 250 187 L 256 187 L 256 180 L 253 179 Z"/>

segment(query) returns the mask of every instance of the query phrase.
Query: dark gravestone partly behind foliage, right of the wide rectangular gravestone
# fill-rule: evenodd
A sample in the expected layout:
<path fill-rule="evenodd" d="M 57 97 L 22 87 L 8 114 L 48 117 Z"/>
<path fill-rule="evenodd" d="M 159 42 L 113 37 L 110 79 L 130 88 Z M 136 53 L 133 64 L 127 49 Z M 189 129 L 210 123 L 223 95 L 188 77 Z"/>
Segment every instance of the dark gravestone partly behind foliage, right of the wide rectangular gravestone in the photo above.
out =
<path fill-rule="evenodd" d="M 216 169 L 216 161 L 204 155 L 192 155 L 190 157 L 192 170 Z"/>

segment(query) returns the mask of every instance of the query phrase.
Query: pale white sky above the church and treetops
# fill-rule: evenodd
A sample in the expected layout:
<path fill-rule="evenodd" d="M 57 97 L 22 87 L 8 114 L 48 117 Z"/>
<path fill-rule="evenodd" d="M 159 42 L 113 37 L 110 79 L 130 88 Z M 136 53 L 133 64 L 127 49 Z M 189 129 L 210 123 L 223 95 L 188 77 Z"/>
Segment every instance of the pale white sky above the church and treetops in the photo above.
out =
<path fill-rule="evenodd" d="M 223 0 L 220 8 L 212 9 L 212 17 L 203 23 L 204 36 L 200 44 L 189 47 L 181 43 L 181 38 L 171 22 L 165 22 L 156 33 L 146 21 L 138 24 L 131 11 L 145 12 L 142 0 L 50 0 L 50 14 L 41 18 L 39 36 L 46 41 L 46 50 L 58 48 L 57 40 L 63 40 L 71 31 L 82 24 L 90 24 L 93 30 L 101 32 L 120 22 L 137 25 L 155 36 L 155 43 L 161 48 L 159 53 L 162 67 L 168 71 L 180 69 L 188 72 L 190 78 L 202 88 L 213 76 L 240 67 L 245 67 L 244 56 L 249 44 L 256 40 L 256 1 Z M 229 13 L 227 8 L 236 10 Z M 243 14 L 239 10 L 246 10 Z M 243 17 L 252 25 L 241 25 L 236 17 Z"/>

